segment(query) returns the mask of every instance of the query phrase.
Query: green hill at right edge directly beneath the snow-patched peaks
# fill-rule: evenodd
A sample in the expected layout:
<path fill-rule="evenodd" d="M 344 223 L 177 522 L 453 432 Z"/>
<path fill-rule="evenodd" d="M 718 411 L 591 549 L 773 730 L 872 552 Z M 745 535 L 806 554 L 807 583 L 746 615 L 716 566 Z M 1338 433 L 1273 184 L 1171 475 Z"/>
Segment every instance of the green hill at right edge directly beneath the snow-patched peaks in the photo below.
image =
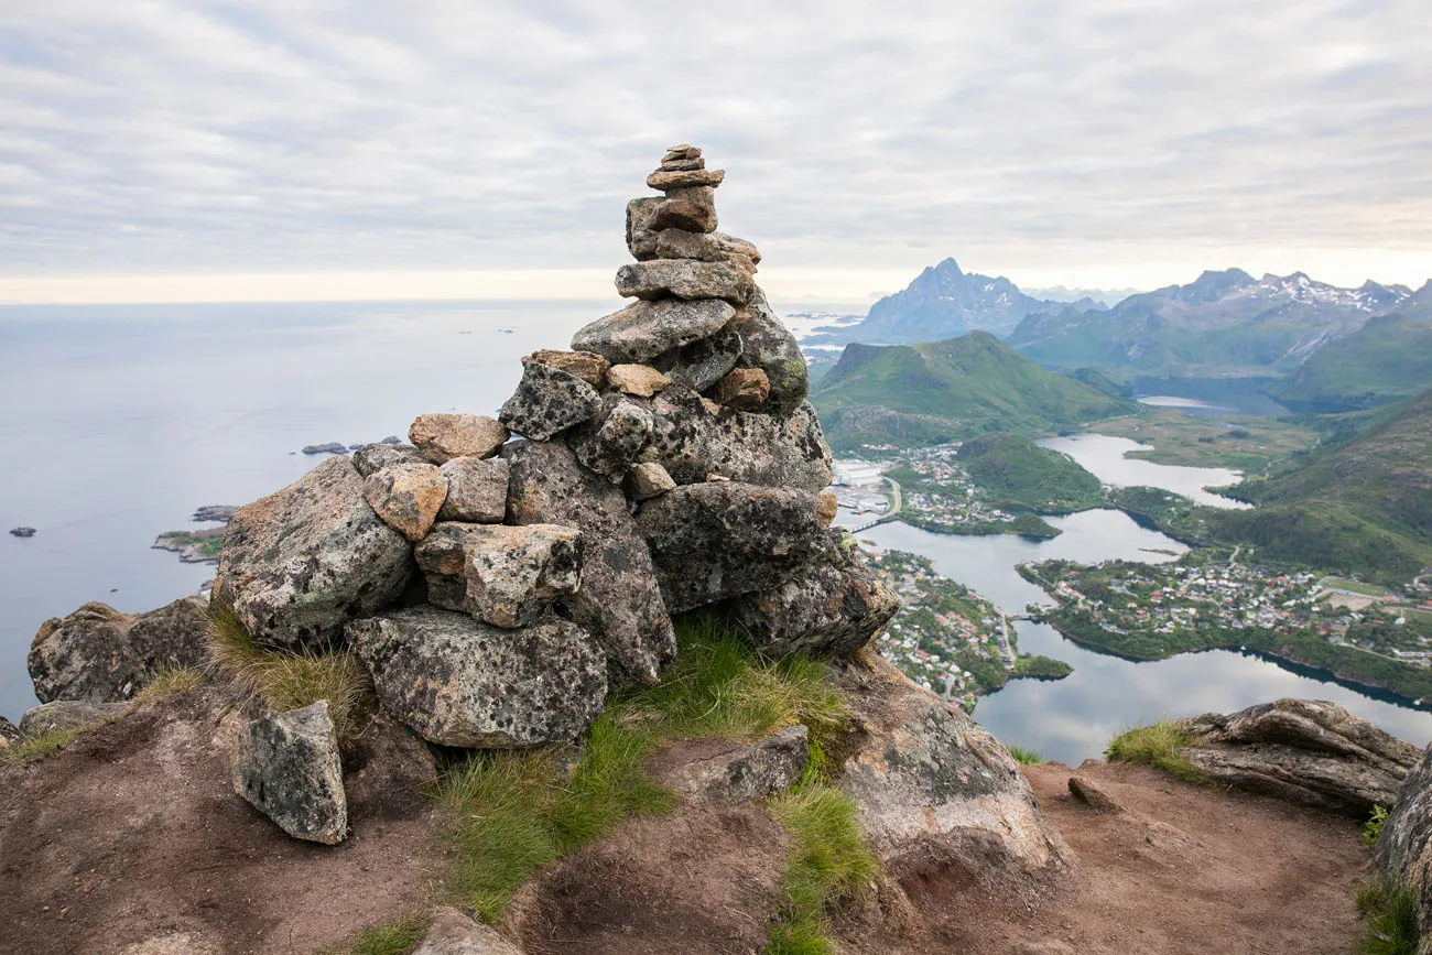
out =
<path fill-rule="evenodd" d="M 1432 387 L 1432 322 L 1369 319 L 1264 391 L 1293 411 L 1336 414 L 1402 401 Z"/>

